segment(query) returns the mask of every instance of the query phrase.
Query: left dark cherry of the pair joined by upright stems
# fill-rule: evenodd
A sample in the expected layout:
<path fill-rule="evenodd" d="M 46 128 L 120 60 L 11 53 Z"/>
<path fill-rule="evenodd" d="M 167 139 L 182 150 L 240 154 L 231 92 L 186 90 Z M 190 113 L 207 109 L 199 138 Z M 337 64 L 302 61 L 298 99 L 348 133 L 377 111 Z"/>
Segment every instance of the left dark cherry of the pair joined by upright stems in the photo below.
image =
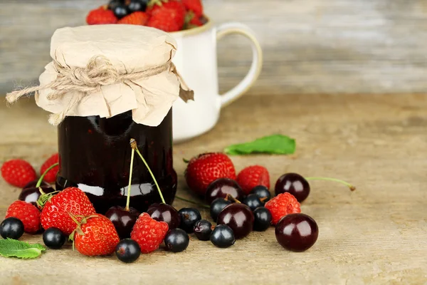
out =
<path fill-rule="evenodd" d="M 127 211 L 124 207 L 115 206 L 108 209 L 105 213 L 105 217 L 110 219 L 112 224 L 114 224 L 120 239 L 127 239 L 130 238 L 130 232 L 132 232 L 132 228 L 135 222 L 137 222 L 139 214 L 138 210 L 132 207 Z"/>

